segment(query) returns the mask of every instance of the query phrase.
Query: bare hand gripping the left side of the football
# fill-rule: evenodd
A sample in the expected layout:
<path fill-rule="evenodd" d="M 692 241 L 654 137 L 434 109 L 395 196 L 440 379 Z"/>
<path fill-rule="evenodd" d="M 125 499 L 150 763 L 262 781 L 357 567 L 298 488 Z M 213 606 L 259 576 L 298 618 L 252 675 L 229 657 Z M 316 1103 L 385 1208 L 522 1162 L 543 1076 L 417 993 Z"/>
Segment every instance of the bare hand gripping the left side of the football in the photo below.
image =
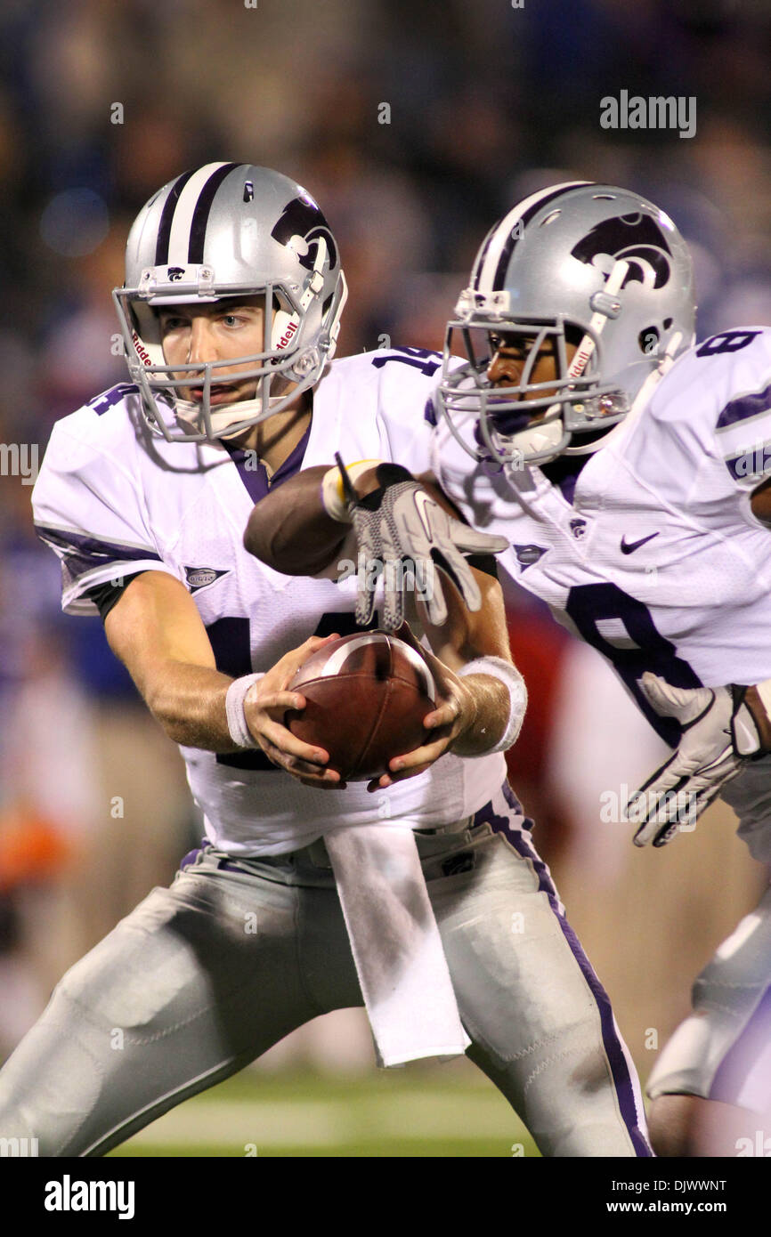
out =
<path fill-rule="evenodd" d="M 311 636 L 304 644 L 285 653 L 267 674 L 252 683 L 244 700 L 246 725 L 269 761 L 277 764 L 278 768 L 286 769 L 304 785 L 330 790 L 339 790 L 344 788 L 345 783 L 340 782 L 340 774 L 334 769 L 324 768 L 329 760 L 329 752 L 325 752 L 323 747 L 303 743 L 291 730 L 287 730 L 283 725 L 283 717 L 287 709 L 306 708 L 306 698 L 302 691 L 287 690 L 299 667 L 317 649 L 339 638 L 337 633 L 324 638 Z"/>

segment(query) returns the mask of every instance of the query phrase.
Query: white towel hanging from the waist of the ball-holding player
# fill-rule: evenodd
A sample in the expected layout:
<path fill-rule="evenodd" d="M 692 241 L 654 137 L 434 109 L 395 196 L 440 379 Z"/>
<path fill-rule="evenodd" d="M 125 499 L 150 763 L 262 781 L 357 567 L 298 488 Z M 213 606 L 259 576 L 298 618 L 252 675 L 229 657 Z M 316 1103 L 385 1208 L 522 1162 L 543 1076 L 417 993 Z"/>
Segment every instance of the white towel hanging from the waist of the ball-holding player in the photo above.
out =
<path fill-rule="evenodd" d="M 381 1065 L 458 1056 L 460 1023 L 415 834 L 358 825 L 324 835 Z"/>

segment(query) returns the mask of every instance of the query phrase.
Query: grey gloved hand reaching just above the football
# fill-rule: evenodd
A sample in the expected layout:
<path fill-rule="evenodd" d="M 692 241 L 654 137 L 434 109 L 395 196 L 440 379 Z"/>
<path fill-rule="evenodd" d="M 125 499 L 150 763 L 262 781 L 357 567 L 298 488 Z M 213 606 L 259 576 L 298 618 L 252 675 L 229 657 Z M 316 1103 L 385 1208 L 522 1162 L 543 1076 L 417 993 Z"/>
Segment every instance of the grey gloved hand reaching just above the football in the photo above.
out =
<path fill-rule="evenodd" d="M 474 573 L 464 555 L 500 554 L 509 546 L 505 537 L 478 533 L 468 524 L 449 516 L 398 464 L 381 464 L 380 487 L 359 499 L 335 455 L 343 476 L 348 512 L 354 526 L 359 560 L 366 570 L 359 571 L 356 622 L 365 626 L 375 606 L 376 574 L 369 564 L 382 564 L 385 609 L 381 626 L 386 631 L 401 627 L 405 617 L 402 569 L 405 560 L 426 564 L 424 600 L 429 621 L 441 627 L 447 620 L 447 602 L 442 591 L 443 571 L 455 585 L 469 610 L 479 610 L 481 594 Z"/>

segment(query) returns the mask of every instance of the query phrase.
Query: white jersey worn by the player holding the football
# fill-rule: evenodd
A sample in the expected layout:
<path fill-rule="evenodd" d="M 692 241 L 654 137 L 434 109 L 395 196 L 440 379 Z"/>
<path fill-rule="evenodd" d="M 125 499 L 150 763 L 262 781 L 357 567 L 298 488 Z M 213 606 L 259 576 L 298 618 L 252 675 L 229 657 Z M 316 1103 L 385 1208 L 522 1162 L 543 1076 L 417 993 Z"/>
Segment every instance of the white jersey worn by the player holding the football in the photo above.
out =
<path fill-rule="evenodd" d="M 424 471 L 423 408 L 437 370 L 436 354 L 420 349 L 334 361 L 314 388 L 308 434 L 271 484 L 332 463 L 335 450 L 348 463 L 395 460 Z M 217 667 L 233 677 L 270 669 L 313 633 L 355 631 L 355 574 L 340 584 L 282 575 L 244 549 L 246 521 L 267 489 L 254 452 L 153 435 L 135 386 L 98 396 L 57 422 L 32 494 L 38 534 L 62 562 L 63 609 L 97 614 L 87 596 L 95 585 L 168 571 L 193 595 Z M 297 850 L 340 824 L 447 824 L 488 803 L 505 779 L 501 755 L 449 755 L 375 794 L 364 782 L 316 790 L 260 751 L 181 751 L 209 840 L 244 856 Z"/>

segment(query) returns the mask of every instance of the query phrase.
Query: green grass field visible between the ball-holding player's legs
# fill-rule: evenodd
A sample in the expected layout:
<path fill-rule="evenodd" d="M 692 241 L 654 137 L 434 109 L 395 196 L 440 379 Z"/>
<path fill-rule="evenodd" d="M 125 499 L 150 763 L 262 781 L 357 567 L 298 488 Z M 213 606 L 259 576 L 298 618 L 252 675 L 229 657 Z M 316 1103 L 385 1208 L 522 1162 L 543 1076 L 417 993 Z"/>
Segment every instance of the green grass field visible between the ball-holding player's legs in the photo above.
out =
<path fill-rule="evenodd" d="M 111 1154 L 537 1157 L 538 1152 L 495 1087 L 473 1066 L 455 1064 L 356 1076 L 245 1070 L 187 1100 Z"/>

